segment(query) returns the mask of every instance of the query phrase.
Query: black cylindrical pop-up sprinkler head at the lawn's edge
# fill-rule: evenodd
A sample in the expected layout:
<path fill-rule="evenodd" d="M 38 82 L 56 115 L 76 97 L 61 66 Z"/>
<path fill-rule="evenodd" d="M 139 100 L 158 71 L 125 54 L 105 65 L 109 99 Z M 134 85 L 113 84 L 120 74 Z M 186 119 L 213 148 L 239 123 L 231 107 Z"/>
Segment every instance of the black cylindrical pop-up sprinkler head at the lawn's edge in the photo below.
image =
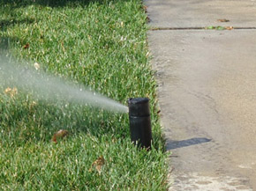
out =
<path fill-rule="evenodd" d="M 132 142 L 149 149 L 152 141 L 149 99 L 128 99 L 128 107 Z"/>

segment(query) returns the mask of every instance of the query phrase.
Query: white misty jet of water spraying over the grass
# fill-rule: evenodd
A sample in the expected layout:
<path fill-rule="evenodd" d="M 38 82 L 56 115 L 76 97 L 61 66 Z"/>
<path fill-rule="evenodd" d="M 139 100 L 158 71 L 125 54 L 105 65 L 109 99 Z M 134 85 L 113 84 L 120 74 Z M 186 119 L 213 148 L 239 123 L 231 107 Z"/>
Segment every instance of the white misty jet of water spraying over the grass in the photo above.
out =
<path fill-rule="evenodd" d="M 81 84 L 75 84 L 38 70 L 40 65 L 36 64 L 32 68 L 27 64 L 25 66 L 25 64 L 11 61 L 9 57 L 0 56 L 0 84 L 15 86 L 18 90 L 29 92 L 38 99 L 64 100 L 80 105 L 100 107 L 112 112 L 128 112 L 128 107 L 117 101 L 91 92 Z"/>

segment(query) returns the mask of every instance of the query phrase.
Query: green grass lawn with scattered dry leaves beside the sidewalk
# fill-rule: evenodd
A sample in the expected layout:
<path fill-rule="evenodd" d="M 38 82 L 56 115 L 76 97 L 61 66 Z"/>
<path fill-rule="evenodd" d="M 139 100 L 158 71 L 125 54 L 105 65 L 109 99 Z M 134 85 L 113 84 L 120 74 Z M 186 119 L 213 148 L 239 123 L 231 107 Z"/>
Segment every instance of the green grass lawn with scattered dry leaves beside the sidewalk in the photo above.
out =
<path fill-rule="evenodd" d="M 154 143 L 130 141 L 128 114 L 45 102 L 0 82 L 0 190 L 166 190 L 140 0 L 0 0 L 0 51 L 124 105 L 151 99 Z M 25 64 L 25 63 L 22 63 Z M 69 136 L 51 141 L 59 129 Z"/>

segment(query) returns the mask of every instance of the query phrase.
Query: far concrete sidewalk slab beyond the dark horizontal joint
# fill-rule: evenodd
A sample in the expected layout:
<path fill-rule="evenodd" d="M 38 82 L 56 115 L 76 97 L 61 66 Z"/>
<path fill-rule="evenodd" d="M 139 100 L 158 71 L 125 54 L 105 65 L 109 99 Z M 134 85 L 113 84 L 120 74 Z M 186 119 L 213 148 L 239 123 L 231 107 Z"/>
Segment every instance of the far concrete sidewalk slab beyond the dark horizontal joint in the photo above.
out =
<path fill-rule="evenodd" d="M 150 25 L 255 27 L 256 0 L 145 0 Z M 217 19 L 229 19 L 228 23 Z"/>

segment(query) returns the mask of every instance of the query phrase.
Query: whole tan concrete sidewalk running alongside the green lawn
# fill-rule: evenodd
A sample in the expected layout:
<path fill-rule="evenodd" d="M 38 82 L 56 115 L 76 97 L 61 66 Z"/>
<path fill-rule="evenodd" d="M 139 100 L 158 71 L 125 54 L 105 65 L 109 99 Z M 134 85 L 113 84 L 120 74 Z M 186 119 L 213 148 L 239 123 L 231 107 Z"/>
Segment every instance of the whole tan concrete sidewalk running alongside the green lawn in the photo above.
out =
<path fill-rule="evenodd" d="M 170 190 L 256 190 L 256 1 L 145 4 Z"/>

